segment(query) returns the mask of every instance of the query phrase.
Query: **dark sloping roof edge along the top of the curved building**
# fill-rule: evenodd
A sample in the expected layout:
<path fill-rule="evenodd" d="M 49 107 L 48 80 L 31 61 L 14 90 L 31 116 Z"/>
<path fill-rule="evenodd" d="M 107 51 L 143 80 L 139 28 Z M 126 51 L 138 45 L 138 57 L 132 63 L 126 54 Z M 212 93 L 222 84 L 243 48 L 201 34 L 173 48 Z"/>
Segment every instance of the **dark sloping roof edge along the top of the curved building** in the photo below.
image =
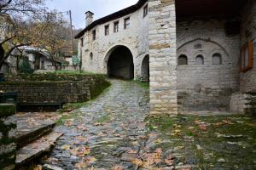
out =
<path fill-rule="evenodd" d="M 143 5 L 145 3 L 147 3 L 148 0 L 139 0 L 135 5 L 132 5 L 128 8 L 124 8 L 122 10 L 119 10 L 118 12 L 115 12 L 113 14 L 109 14 L 108 16 L 105 16 L 99 20 L 95 20 L 94 22 L 92 22 L 89 26 L 87 26 L 86 28 L 84 28 L 83 31 L 80 31 L 78 35 L 75 36 L 75 38 L 79 38 L 82 37 L 84 35 L 85 31 L 90 31 L 91 29 L 93 29 L 95 26 L 104 24 L 110 20 L 116 20 L 122 16 L 125 16 L 127 14 L 131 14 L 135 11 L 137 11 L 139 8 L 142 8 Z"/>

